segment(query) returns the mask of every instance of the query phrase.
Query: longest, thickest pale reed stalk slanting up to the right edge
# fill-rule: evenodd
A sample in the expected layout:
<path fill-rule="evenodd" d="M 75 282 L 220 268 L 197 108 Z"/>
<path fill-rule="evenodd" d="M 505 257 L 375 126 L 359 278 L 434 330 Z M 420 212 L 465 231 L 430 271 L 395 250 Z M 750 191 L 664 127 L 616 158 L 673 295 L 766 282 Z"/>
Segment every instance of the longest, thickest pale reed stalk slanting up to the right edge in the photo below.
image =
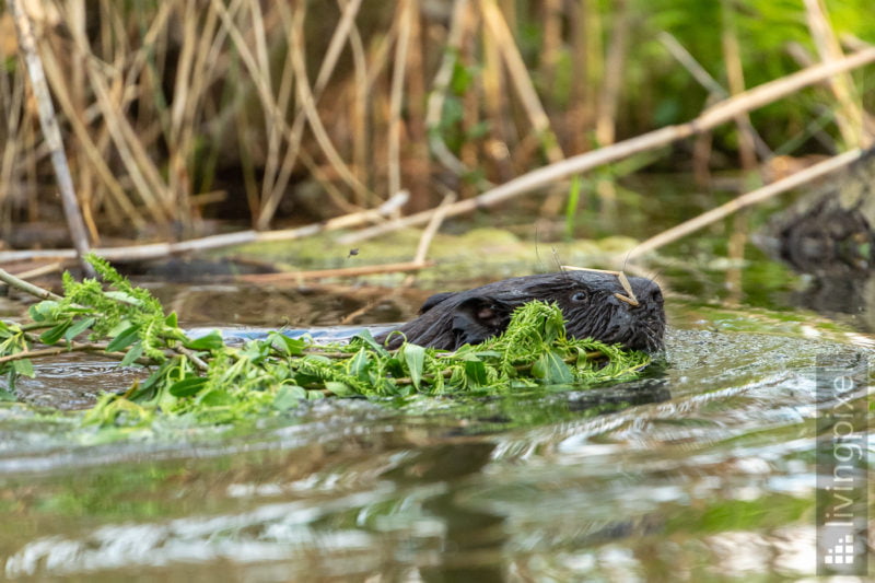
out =
<path fill-rule="evenodd" d="M 541 168 L 534 170 L 529 173 L 523 174 L 508 183 L 504 183 L 495 188 L 487 190 L 486 193 L 465 200 L 460 200 L 451 205 L 446 209 L 447 217 L 455 217 L 464 214 L 477 209 L 492 207 L 499 202 L 503 202 L 510 198 L 530 193 L 537 188 L 542 188 L 551 183 L 567 178 L 574 174 L 580 174 L 587 170 L 615 162 L 617 160 L 631 156 L 648 150 L 661 148 L 672 142 L 688 138 L 690 136 L 701 133 L 710 130 L 725 121 L 735 119 L 735 117 L 744 112 L 762 107 L 769 103 L 780 100 L 790 95 L 805 86 L 818 83 L 824 79 L 832 75 L 856 69 L 864 65 L 875 61 L 875 47 L 870 47 L 844 59 L 829 61 L 802 71 L 792 73 L 788 77 L 770 81 L 762 85 L 739 93 L 731 98 L 719 102 L 718 104 L 709 107 L 696 119 L 686 124 L 677 126 L 667 126 L 648 133 L 643 133 L 635 138 L 630 138 L 617 142 L 607 148 L 579 154 L 556 164 L 550 164 Z M 413 226 L 424 224 L 431 218 L 434 210 L 418 212 L 396 221 L 392 221 L 384 225 L 364 229 L 355 233 L 358 240 L 371 238 L 384 233 L 397 231 L 406 226 Z M 345 238 L 339 240 L 341 244 Z"/>

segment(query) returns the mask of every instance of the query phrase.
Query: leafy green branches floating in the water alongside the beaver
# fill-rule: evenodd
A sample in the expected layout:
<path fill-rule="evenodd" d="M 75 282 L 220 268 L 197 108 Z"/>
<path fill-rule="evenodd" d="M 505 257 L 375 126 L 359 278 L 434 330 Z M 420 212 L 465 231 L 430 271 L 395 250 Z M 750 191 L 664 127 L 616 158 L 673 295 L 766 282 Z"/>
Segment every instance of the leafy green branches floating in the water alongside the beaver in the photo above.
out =
<path fill-rule="evenodd" d="M 102 284 L 65 275 L 65 295 L 30 308 L 32 322 L 0 322 L 0 373 L 11 392 L 32 360 L 67 351 L 144 366 L 149 376 L 104 394 L 84 416 L 103 427 L 144 427 L 159 417 L 195 424 L 234 423 L 287 411 L 304 400 L 415 395 L 487 396 L 545 385 L 592 386 L 634 378 L 651 357 L 565 335 L 555 304 L 532 302 L 514 312 L 506 331 L 448 352 L 405 342 L 387 350 L 370 333 L 346 343 L 269 333 L 229 346 L 219 331 L 190 338 L 176 314 L 91 256 Z"/>

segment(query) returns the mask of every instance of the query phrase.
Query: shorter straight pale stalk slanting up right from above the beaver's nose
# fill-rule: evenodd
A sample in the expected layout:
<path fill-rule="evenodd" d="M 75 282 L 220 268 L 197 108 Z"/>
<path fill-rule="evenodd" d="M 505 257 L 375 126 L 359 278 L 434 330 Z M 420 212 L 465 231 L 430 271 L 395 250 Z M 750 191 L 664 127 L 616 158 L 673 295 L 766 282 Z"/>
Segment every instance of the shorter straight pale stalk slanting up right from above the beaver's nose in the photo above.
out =
<path fill-rule="evenodd" d="M 830 158 L 829 160 L 820 162 L 819 164 L 815 164 L 814 166 L 809 166 L 768 186 L 751 190 L 750 193 L 742 195 L 738 198 L 735 198 L 715 209 L 711 209 L 710 211 L 704 212 L 695 219 L 685 221 L 673 226 L 672 229 L 668 229 L 667 231 L 663 231 L 658 235 L 652 236 L 651 238 L 638 245 L 628 254 L 618 256 L 617 259 L 622 260 L 640 257 L 648 252 L 651 252 L 657 247 L 662 247 L 663 245 L 689 235 L 690 233 L 698 231 L 699 229 L 702 229 L 715 221 L 724 219 L 737 210 L 756 205 L 757 202 L 761 202 L 775 195 L 790 190 L 791 188 L 802 186 L 809 180 L 829 174 L 830 172 L 843 168 L 856 160 L 860 160 L 862 155 L 863 150 L 851 150 L 850 152 L 844 152 L 843 154 Z"/>

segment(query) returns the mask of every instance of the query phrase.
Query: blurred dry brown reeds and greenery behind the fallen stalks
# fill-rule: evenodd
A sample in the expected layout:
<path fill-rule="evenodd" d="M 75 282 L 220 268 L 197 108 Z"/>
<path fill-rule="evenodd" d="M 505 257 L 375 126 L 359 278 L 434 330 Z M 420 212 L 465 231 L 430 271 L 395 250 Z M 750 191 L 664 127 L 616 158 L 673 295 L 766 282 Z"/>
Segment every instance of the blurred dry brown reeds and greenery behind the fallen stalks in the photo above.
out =
<path fill-rule="evenodd" d="M 400 189 L 431 208 L 817 62 L 818 24 L 833 49 L 875 40 L 871 0 L 23 3 L 97 244 L 301 224 Z M 62 211 L 2 1 L 0 62 L 0 244 L 28 246 L 20 228 Z M 707 183 L 858 145 L 873 82 L 843 82 L 640 165 Z"/>

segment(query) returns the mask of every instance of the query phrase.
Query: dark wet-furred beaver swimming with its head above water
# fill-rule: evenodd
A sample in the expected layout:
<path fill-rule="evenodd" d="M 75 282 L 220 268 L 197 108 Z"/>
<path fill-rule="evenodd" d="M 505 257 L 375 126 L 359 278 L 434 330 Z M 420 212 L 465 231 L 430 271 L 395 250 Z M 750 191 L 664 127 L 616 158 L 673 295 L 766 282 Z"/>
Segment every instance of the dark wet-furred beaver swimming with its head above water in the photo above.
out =
<path fill-rule="evenodd" d="M 573 338 L 594 338 L 627 348 L 657 351 L 663 347 L 665 312 L 660 287 L 645 278 L 629 278 L 640 305 L 632 306 L 615 294 L 627 295 L 617 276 L 595 271 L 562 271 L 495 281 L 480 288 L 432 295 L 420 316 L 397 328 L 410 342 L 455 350 L 482 342 L 508 328 L 514 308 L 541 300 L 562 308 L 565 329 Z M 385 341 L 390 333 L 377 337 Z M 388 347 L 400 346 L 393 335 Z"/>

